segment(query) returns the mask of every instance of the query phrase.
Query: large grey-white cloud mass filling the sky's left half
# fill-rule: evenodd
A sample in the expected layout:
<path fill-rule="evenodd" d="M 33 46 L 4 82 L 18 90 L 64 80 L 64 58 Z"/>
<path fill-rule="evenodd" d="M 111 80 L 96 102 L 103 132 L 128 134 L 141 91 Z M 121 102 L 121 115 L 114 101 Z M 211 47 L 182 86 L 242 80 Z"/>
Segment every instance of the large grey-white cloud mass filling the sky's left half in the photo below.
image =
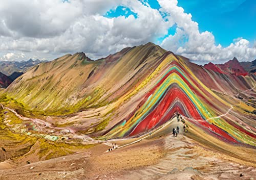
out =
<path fill-rule="evenodd" d="M 138 18 L 102 15 L 119 5 L 136 12 Z M 139 1 L 11 0 L 1 2 L 0 7 L 0 17 L 12 34 L 0 36 L 3 42 L 0 50 L 5 51 L 55 55 L 83 51 L 92 58 L 99 58 L 127 46 L 154 41 L 173 25 L 173 22 L 165 22 L 157 10 Z"/>

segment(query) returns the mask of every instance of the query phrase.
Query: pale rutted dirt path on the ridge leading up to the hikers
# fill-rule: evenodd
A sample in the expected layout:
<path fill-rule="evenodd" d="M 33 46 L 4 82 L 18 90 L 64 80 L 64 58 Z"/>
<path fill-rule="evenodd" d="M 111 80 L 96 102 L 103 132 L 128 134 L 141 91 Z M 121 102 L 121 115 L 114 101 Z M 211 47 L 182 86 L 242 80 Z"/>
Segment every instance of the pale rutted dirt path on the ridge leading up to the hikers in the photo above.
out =
<path fill-rule="evenodd" d="M 181 122 L 173 121 L 170 128 Z M 180 128 L 181 129 L 181 128 Z M 207 151 L 186 136 L 183 129 L 178 137 L 171 134 L 165 138 L 166 156 L 158 164 L 129 172 L 116 179 L 250 179 L 256 177 L 256 168 L 242 166 L 220 159 L 214 151 Z M 242 176 L 240 176 L 242 174 Z"/>

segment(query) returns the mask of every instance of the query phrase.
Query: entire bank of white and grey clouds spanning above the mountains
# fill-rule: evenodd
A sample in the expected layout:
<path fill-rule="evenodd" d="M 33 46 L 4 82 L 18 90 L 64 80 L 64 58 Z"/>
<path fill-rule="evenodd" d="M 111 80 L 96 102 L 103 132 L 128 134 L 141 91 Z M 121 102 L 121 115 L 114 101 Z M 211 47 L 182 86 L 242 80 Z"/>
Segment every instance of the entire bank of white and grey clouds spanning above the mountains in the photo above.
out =
<path fill-rule="evenodd" d="M 160 44 L 174 53 L 198 61 L 227 60 L 234 56 L 252 60 L 256 56 L 255 43 L 251 46 L 243 38 L 234 40 L 228 47 L 216 45 L 212 33 L 199 32 L 198 23 L 178 7 L 177 0 L 158 2 L 159 10 L 142 0 L 1 1 L 1 59 L 6 60 L 4 55 L 8 53 L 24 53 L 23 58 L 36 56 L 51 60 L 82 51 L 97 59 L 127 46 L 156 42 L 174 24 L 175 35 L 169 35 Z M 130 9 L 136 17 L 104 16 L 118 6 Z"/>

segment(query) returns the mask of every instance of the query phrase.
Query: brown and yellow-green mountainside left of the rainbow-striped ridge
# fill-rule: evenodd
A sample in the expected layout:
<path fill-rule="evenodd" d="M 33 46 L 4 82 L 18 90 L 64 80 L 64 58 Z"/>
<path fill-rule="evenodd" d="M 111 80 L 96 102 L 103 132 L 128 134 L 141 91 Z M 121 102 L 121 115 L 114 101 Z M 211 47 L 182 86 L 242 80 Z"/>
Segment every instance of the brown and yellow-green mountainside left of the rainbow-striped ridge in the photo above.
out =
<path fill-rule="evenodd" d="M 17 78 L 7 92 L 35 111 L 73 113 L 101 107 L 152 73 L 159 63 L 156 59 L 165 52 L 148 43 L 124 48 L 96 61 L 83 53 L 66 55 L 34 66 Z"/>

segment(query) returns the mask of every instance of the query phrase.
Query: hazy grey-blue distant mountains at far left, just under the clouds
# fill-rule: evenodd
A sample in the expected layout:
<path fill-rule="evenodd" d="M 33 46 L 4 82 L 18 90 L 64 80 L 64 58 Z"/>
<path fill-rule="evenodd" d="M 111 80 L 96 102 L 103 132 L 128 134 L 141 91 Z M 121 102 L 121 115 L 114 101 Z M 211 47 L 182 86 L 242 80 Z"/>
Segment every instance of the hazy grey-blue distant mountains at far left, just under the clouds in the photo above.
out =
<path fill-rule="evenodd" d="M 38 59 L 29 59 L 28 61 L 0 61 L 0 72 L 9 76 L 14 72 L 25 72 L 30 67 L 37 65 L 41 62 L 46 61 L 40 61 Z"/>

